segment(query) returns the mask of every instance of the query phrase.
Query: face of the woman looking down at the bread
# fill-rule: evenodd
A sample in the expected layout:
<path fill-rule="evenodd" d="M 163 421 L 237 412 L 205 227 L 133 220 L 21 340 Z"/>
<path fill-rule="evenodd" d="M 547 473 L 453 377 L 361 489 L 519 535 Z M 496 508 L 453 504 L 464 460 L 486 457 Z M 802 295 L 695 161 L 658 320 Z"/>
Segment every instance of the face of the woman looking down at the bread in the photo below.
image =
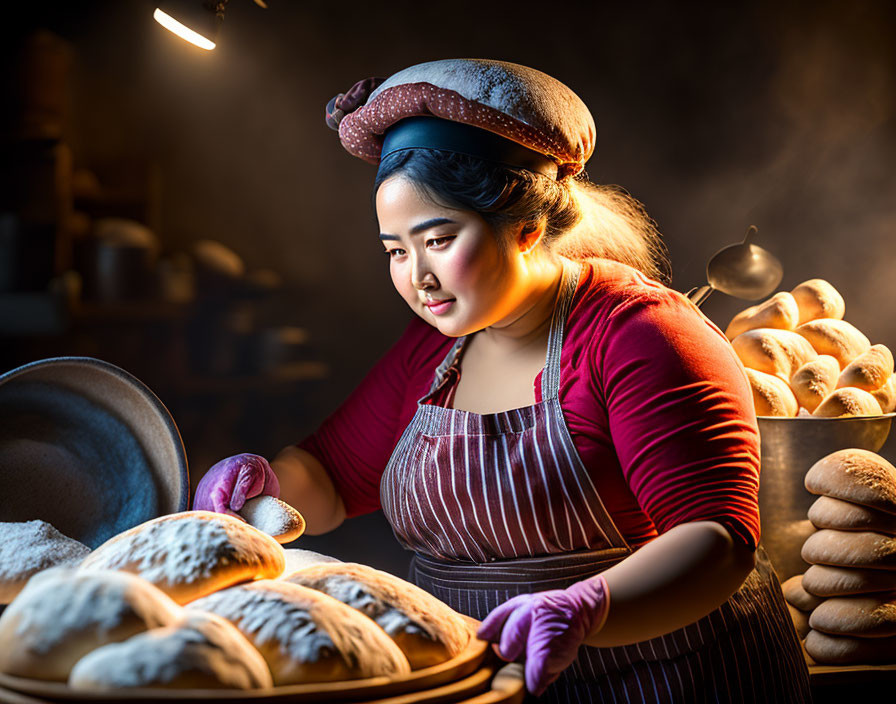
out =
<path fill-rule="evenodd" d="M 450 337 L 513 319 L 525 296 L 518 248 L 482 217 L 437 205 L 401 176 L 376 194 L 392 283 L 417 315 Z"/>

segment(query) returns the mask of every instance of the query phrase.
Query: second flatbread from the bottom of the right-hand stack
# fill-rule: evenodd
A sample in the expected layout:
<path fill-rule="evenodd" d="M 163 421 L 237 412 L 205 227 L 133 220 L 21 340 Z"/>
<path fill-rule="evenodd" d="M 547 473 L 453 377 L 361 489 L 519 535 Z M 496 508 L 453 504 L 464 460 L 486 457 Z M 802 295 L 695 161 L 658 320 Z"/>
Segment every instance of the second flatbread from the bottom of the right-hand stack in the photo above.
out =
<path fill-rule="evenodd" d="M 826 599 L 809 616 L 816 631 L 858 638 L 896 636 L 896 596 L 837 596 Z"/>

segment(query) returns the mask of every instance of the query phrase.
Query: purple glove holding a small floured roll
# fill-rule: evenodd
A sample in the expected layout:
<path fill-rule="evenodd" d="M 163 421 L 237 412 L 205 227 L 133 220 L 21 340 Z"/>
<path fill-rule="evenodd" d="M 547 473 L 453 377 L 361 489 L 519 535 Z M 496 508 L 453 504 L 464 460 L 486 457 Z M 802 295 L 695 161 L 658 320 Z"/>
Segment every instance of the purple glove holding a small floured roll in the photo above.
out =
<path fill-rule="evenodd" d="M 233 455 L 213 465 L 199 480 L 193 510 L 236 516 L 246 499 L 262 495 L 280 498 L 280 482 L 271 465 L 260 455 Z"/>

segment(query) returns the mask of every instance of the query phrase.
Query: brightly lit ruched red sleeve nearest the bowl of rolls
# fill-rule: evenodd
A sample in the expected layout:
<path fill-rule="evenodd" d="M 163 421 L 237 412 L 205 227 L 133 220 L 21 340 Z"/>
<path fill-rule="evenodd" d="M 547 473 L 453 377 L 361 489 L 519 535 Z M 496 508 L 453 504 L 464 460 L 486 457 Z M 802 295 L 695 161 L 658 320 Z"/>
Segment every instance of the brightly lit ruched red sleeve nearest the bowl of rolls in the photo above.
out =
<path fill-rule="evenodd" d="M 743 366 L 681 294 L 619 305 L 597 341 L 598 383 L 626 480 L 662 533 L 718 521 L 759 542 L 759 430 Z"/>

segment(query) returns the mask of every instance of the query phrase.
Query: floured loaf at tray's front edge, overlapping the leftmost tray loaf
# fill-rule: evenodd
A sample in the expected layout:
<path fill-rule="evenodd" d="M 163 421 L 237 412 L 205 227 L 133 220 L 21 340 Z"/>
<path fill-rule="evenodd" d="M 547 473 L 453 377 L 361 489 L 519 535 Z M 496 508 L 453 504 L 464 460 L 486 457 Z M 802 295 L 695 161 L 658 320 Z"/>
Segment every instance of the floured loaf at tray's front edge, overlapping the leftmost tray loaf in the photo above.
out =
<path fill-rule="evenodd" d="M 69 687 L 107 691 L 159 689 L 260 689 L 271 672 L 236 626 L 215 614 L 186 612 L 176 623 L 104 645 L 72 668 Z"/>

